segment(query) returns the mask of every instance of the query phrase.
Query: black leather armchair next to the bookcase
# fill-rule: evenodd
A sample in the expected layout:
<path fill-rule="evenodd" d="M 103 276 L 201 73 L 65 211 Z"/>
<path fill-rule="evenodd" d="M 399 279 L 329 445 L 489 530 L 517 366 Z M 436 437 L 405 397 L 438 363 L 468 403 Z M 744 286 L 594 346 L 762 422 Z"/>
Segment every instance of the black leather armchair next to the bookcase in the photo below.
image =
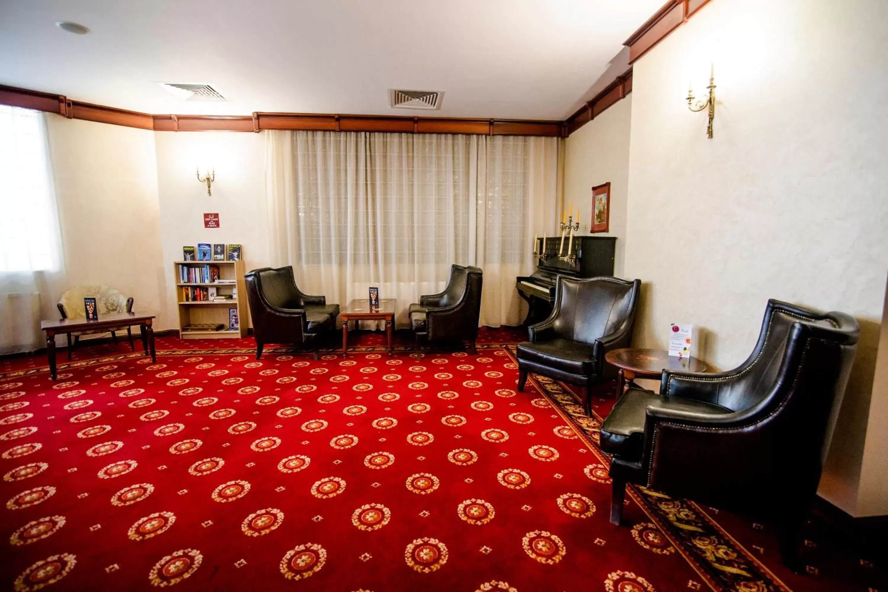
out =
<path fill-rule="evenodd" d="M 339 304 L 327 304 L 324 296 L 300 292 L 289 265 L 254 269 L 244 279 L 256 337 L 256 359 L 266 343 L 301 343 L 318 359 L 321 332 L 334 328 Z"/>

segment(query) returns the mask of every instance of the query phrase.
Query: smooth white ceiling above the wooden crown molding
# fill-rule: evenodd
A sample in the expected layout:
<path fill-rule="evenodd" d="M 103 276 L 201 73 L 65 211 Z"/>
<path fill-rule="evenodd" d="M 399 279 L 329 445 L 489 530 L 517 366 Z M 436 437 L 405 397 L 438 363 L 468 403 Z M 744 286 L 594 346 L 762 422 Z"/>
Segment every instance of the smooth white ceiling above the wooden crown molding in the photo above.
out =
<path fill-rule="evenodd" d="M 0 0 L 0 84 L 153 114 L 560 120 L 661 4 Z M 211 83 L 228 101 L 183 101 L 158 82 Z M 392 109 L 389 88 L 444 91 L 443 106 Z"/>

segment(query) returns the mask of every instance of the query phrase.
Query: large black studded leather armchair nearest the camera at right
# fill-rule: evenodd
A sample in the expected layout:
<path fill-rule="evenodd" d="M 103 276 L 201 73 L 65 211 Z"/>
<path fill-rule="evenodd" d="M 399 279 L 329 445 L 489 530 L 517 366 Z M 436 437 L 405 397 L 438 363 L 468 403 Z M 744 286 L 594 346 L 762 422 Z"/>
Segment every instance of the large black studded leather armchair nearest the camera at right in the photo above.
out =
<path fill-rule="evenodd" d="M 633 389 L 601 425 L 613 454 L 611 522 L 626 483 L 738 511 L 779 526 L 797 568 L 798 529 L 820 482 L 860 329 L 769 300 L 756 349 L 720 374 L 665 371 L 660 391 Z"/>

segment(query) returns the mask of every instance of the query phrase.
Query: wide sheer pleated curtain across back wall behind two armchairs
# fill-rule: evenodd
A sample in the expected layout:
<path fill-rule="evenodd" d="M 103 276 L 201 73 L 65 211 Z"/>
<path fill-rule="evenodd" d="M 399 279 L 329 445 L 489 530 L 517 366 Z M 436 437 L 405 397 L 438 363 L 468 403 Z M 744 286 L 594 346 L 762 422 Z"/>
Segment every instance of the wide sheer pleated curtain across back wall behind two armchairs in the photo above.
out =
<path fill-rule="evenodd" d="M 398 299 L 399 325 L 450 264 L 484 269 L 483 324 L 522 317 L 515 276 L 534 233 L 554 233 L 558 138 L 267 132 L 274 265 L 300 288 L 348 304 L 369 286 Z"/>

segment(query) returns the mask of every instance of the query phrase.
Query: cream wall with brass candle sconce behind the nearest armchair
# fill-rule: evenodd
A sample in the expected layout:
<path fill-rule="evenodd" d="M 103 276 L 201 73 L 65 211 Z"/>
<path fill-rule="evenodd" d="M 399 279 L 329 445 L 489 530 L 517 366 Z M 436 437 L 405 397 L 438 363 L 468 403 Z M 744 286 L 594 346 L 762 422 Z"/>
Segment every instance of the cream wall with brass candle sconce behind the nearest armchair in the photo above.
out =
<path fill-rule="evenodd" d="M 636 343 L 707 330 L 736 366 L 769 297 L 860 320 L 820 493 L 854 516 L 888 269 L 888 3 L 718 0 L 633 70 L 625 273 L 646 282 Z M 715 138 L 686 107 L 715 65 Z M 869 428 L 867 425 L 869 415 Z M 875 425 L 874 425 L 875 422 Z M 870 433 L 868 433 L 868 431 Z M 884 451 L 883 451 L 884 458 Z M 888 513 L 888 494 L 868 506 Z"/>

